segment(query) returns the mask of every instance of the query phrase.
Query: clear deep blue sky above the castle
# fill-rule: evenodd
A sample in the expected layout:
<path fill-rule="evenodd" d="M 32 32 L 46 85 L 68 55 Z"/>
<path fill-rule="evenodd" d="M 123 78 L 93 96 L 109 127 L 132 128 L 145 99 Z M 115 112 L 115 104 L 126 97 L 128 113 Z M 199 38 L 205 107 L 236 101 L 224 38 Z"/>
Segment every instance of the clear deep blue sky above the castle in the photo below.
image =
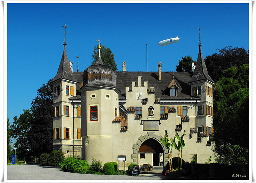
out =
<path fill-rule="evenodd" d="M 74 71 L 77 70 L 77 55 L 80 71 L 91 65 L 91 54 L 99 38 L 102 45 L 112 50 L 118 71 L 122 71 L 124 61 L 127 71 L 146 71 L 146 44 L 148 71 L 157 71 L 158 62 L 162 62 L 162 71 L 175 71 L 182 56 L 191 56 L 196 61 L 198 26 L 204 58 L 226 46 L 249 50 L 249 1 L 140 4 L 10 2 L 7 1 L 5 7 L 6 113 L 10 122 L 14 116 L 19 117 L 23 109 L 30 109 L 37 90 L 57 74 L 64 48 L 62 26 L 65 24 L 66 49 Z M 181 38 L 178 43 L 158 46 L 158 42 L 176 36 Z"/>

